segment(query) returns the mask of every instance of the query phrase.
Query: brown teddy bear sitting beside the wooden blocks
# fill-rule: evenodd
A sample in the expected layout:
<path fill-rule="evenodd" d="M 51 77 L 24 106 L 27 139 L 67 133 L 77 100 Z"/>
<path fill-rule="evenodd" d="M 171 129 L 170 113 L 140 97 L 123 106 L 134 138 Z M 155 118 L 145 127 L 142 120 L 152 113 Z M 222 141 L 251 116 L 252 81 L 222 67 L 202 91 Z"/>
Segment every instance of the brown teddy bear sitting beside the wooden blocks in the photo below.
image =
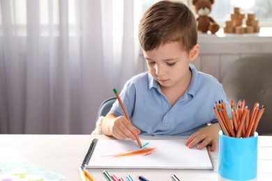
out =
<path fill-rule="evenodd" d="M 214 0 L 192 0 L 192 4 L 195 6 L 195 12 L 197 13 L 197 30 L 202 33 L 216 33 L 220 26 L 209 17 L 211 13 L 211 6 L 213 5 Z"/>

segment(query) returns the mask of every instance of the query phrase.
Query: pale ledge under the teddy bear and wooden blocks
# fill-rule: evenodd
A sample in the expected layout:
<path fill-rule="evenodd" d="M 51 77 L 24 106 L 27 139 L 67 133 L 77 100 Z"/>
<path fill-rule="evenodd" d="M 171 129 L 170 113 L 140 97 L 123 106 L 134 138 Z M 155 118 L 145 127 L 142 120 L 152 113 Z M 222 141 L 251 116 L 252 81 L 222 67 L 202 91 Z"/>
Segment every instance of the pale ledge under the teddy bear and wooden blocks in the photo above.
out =
<path fill-rule="evenodd" d="M 200 54 L 272 53 L 272 27 L 261 27 L 259 33 L 199 33 Z"/>

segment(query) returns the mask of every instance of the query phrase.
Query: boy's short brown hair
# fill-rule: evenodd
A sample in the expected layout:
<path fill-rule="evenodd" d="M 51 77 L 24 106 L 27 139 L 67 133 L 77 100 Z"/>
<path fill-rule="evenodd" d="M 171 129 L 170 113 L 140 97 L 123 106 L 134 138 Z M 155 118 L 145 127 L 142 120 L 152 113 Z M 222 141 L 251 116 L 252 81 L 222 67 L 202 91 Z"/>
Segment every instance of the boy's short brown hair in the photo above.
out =
<path fill-rule="evenodd" d="M 197 21 L 190 8 L 179 1 L 158 1 L 139 22 L 139 42 L 152 51 L 167 42 L 180 42 L 187 52 L 197 45 Z"/>

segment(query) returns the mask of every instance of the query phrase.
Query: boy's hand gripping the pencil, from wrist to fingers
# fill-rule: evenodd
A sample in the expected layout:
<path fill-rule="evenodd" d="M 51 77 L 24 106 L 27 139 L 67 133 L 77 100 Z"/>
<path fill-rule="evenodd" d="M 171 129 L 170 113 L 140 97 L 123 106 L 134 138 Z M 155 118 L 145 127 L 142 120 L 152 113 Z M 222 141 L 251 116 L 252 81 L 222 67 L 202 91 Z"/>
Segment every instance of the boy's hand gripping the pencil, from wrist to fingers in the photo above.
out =
<path fill-rule="evenodd" d="M 136 136 L 140 133 L 139 129 L 133 126 L 133 124 L 124 116 L 119 116 L 112 121 L 109 125 L 109 132 L 116 139 L 130 138 L 135 140 Z"/>

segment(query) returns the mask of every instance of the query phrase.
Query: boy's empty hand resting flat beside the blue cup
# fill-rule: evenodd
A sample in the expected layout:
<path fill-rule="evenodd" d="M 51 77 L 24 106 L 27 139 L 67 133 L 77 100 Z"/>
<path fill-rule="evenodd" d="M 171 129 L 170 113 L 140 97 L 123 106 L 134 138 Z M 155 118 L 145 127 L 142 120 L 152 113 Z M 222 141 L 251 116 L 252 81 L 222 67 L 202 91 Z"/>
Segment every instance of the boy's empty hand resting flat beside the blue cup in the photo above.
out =
<path fill-rule="evenodd" d="M 218 132 L 220 130 L 219 123 L 214 123 L 207 127 L 199 129 L 197 132 L 189 136 L 186 141 L 186 145 L 189 148 L 194 147 L 197 143 L 197 149 L 201 150 L 206 147 L 206 145 L 211 145 L 211 151 L 215 151 L 218 145 Z"/>

